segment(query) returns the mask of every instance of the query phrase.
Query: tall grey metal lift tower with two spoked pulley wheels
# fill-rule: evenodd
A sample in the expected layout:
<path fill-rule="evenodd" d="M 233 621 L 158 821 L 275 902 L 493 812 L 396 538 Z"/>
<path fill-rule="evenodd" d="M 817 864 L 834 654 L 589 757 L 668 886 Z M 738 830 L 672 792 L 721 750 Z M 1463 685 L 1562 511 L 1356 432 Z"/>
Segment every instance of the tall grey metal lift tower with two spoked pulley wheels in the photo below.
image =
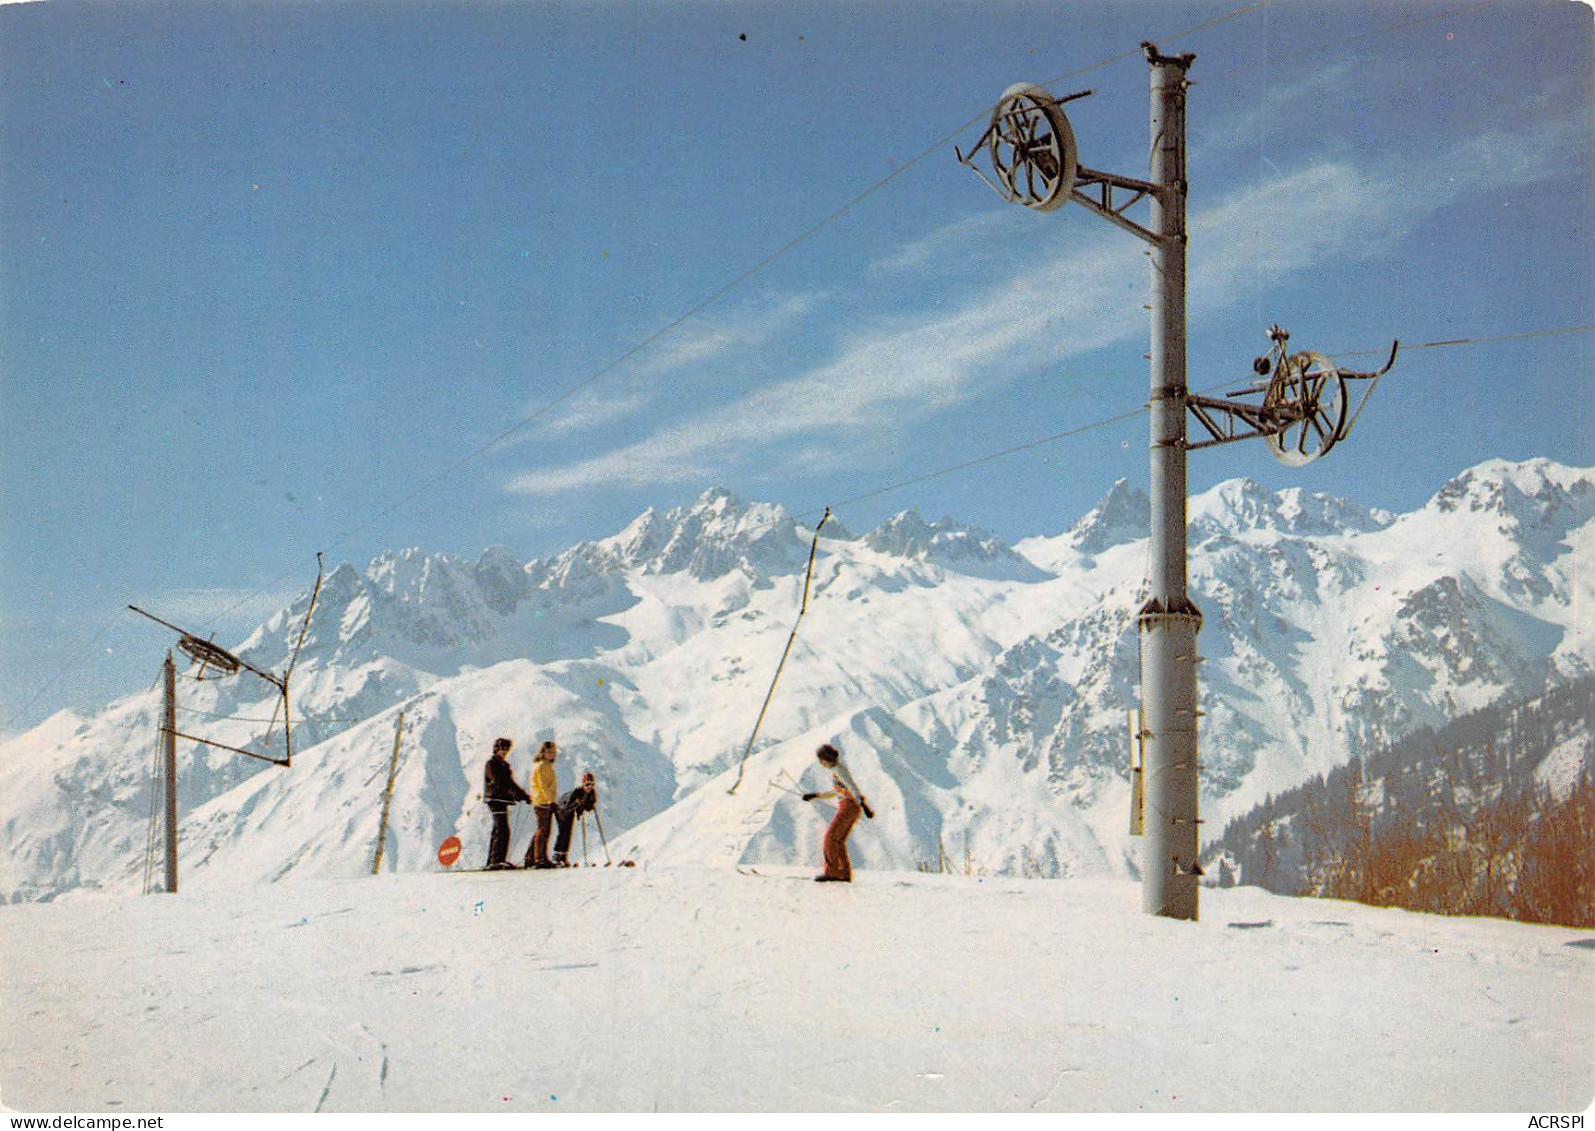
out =
<path fill-rule="evenodd" d="M 1069 201 L 1124 228 L 1150 247 L 1152 260 L 1152 391 L 1148 399 L 1148 463 L 1152 477 L 1150 597 L 1136 617 L 1140 633 L 1140 743 L 1144 812 L 1142 908 L 1171 919 L 1196 919 L 1201 866 L 1199 764 L 1196 705 L 1196 633 L 1201 611 L 1187 589 L 1185 453 L 1254 435 L 1266 437 L 1274 456 L 1290 466 L 1314 459 L 1351 431 L 1346 378 L 1378 380 L 1378 373 L 1346 373 L 1322 354 L 1286 351 L 1289 335 L 1270 332 L 1271 357 L 1255 362 L 1263 378 L 1238 394 L 1263 394 L 1246 404 L 1193 396 L 1185 383 L 1185 93 L 1196 56 L 1166 56 L 1144 43 L 1152 65 L 1152 169 L 1147 180 L 1086 169 L 1078 161 L 1073 129 L 1062 105 L 1091 91 L 1054 99 L 1040 86 L 1010 86 L 970 155 L 959 161 L 1011 203 L 1051 212 Z M 986 152 L 995 179 L 975 166 Z M 1115 196 L 1118 193 L 1118 196 Z M 1148 203 L 1147 225 L 1126 212 Z M 1362 397 L 1372 394 L 1372 386 Z M 1206 437 L 1190 443 L 1185 413 Z M 1361 405 L 1357 408 L 1361 412 Z"/>

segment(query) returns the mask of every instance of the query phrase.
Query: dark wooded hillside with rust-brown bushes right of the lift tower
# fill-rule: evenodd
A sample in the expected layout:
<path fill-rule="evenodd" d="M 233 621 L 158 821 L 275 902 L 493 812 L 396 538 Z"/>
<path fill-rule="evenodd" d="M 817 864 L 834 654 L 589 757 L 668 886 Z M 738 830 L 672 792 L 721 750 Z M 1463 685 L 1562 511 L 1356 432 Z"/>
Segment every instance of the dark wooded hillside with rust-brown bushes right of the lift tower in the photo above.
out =
<path fill-rule="evenodd" d="M 1220 884 L 1595 927 L 1595 678 L 1421 727 L 1268 798 L 1207 849 Z M 1536 770 L 1584 745 L 1558 794 Z"/>

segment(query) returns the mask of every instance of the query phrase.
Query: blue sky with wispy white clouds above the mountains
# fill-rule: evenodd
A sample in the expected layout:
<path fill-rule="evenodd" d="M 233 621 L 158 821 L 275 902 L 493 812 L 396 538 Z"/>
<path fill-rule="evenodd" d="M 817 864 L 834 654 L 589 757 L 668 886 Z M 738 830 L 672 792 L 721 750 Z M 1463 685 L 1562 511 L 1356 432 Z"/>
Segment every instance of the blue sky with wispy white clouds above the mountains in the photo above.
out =
<path fill-rule="evenodd" d="M 804 512 L 1134 408 L 1140 244 L 951 145 L 901 167 L 1239 6 L 0 6 L 0 726 L 147 686 L 167 641 L 128 601 L 236 638 L 317 549 L 525 558 L 713 485 Z M 1276 321 L 1322 351 L 1595 322 L 1590 26 L 1282 0 L 1161 40 L 1196 53 L 1191 386 Z M 1145 174 L 1147 70 L 1056 88 L 1096 89 L 1083 163 Z M 1195 453 L 1191 490 L 1407 509 L 1490 456 L 1592 464 L 1590 338 L 1412 353 L 1325 459 Z M 1140 420 L 839 517 L 1056 533 L 1120 477 Z"/>

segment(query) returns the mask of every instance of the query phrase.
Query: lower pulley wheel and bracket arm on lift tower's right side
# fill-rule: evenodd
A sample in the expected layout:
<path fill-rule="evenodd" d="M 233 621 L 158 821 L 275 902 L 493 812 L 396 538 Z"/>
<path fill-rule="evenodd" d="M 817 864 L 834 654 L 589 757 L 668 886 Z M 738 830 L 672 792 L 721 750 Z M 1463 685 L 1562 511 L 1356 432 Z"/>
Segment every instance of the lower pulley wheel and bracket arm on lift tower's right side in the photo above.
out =
<path fill-rule="evenodd" d="M 1287 467 L 1309 464 L 1351 435 L 1351 426 L 1400 353 L 1397 338 L 1384 365 L 1372 373 L 1357 373 L 1340 368 L 1316 349 L 1290 353 L 1290 335 L 1278 325 L 1268 330 L 1268 338 L 1273 343 L 1268 354 L 1252 362 L 1258 380 L 1228 394 L 1262 394 L 1262 404 L 1187 394 L 1185 405 L 1207 432 L 1207 439 L 1187 442 L 1187 450 L 1262 435 L 1279 463 Z M 1356 408 L 1351 408 L 1349 381 L 1369 383 Z"/>

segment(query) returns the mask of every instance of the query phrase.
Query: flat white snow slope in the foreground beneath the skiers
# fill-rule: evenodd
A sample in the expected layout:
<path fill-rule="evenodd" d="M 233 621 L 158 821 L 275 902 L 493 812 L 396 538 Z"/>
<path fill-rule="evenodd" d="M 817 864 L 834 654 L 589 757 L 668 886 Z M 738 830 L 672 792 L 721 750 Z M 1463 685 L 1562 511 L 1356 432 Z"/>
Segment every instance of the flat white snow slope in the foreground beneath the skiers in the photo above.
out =
<path fill-rule="evenodd" d="M 764 871 L 764 869 L 761 869 Z M 1463 1110 L 1595 1096 L 1595 936 L 1260 889 L 593 868 L 0 908 L 32 1112 Z"/>

